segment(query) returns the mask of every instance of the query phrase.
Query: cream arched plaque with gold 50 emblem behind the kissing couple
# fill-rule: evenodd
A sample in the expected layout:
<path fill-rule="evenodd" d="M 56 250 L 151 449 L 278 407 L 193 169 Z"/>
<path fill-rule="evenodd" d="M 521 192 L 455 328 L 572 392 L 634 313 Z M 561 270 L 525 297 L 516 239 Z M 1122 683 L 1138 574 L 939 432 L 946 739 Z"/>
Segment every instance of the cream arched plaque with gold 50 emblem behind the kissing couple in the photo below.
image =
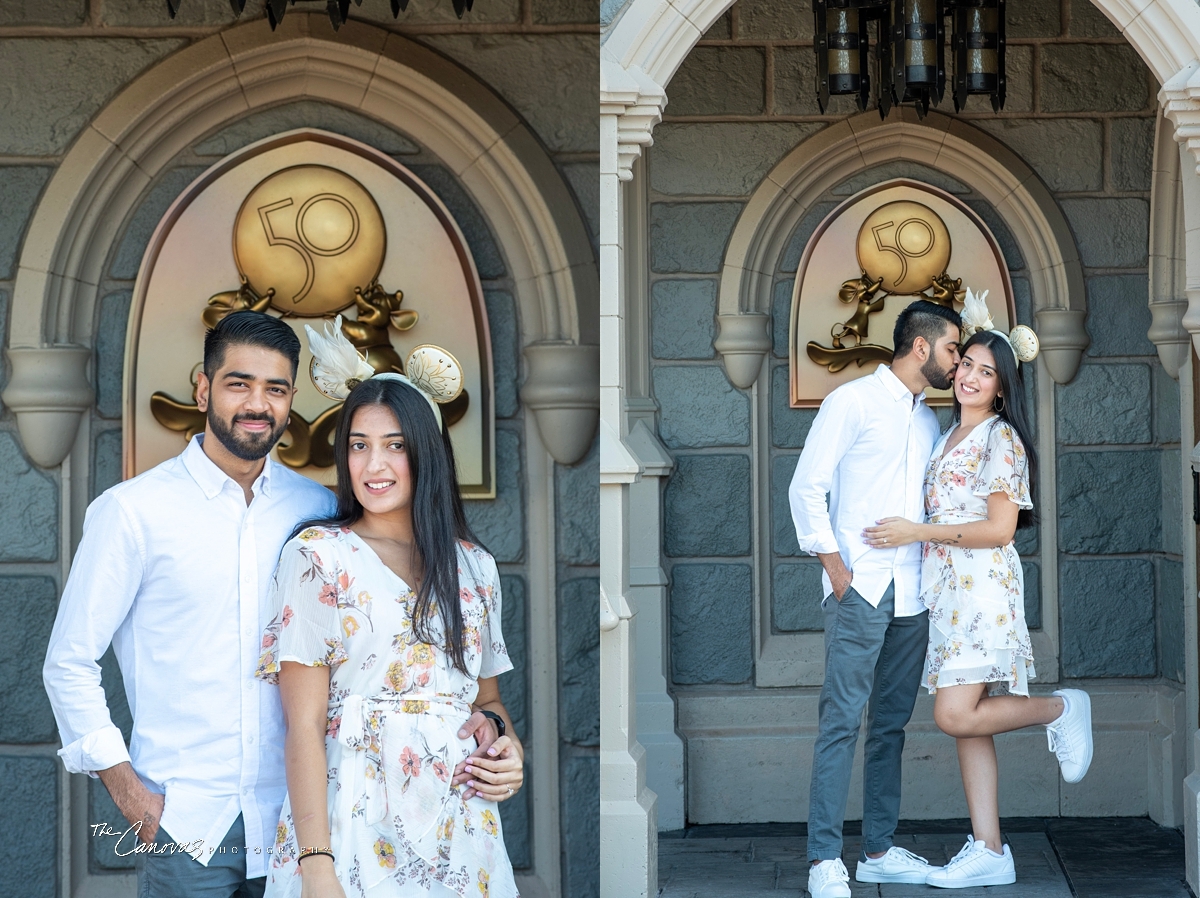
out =
<path fill-rule="evenodd" d="M 853 281 L 859 285 L 852 285 Z M 961 281 L 960 285 L 955 285 Z M 988 291 L 996 327 L 1016 321 L 1000 245 L 974 210 L 919 181 L 896 179 L 848 198 L 809 238 L 792 289 L 791 405 L 820 406 L 829 393 L 887 361 L 892 331 L 917 299 Z M 926 390 L 948 405 L 950 390 Z"/>

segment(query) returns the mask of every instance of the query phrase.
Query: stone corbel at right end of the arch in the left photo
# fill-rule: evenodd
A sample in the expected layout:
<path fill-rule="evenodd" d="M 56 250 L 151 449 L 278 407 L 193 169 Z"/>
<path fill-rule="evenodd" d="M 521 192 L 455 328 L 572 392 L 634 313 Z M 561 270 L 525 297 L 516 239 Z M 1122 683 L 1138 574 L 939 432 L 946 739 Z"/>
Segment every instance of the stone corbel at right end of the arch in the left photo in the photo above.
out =
<path fill-rule="evenodd" d="M 533 409 L 546 450 L 559 465 L 574 465 L 592 448 L 600 413 L 600 347 L 530 343 L 529 377 L 521 401 Z"/>

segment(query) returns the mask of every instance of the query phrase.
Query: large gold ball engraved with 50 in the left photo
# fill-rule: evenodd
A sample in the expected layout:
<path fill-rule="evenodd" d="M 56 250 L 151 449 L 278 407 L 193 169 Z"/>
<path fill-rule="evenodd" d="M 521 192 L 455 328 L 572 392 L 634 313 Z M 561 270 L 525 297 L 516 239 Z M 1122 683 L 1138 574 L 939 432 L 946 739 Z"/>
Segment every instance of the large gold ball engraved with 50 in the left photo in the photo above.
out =
<path fill-rule="evenodd" d="M 356 180 L 326 166 L 294 166 L 263 180 L 233 228 L 238 271 L 281 312 L 320 317 L 354 303 L 379 275 L 383 215 Z"/>

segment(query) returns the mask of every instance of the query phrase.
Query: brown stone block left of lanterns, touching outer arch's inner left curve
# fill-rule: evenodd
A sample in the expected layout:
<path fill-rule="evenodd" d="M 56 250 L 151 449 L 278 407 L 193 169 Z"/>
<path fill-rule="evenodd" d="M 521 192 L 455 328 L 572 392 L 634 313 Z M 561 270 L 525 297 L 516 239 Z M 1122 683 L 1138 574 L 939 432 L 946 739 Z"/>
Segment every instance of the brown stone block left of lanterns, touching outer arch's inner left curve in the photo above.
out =
<path fill-rule="evenodd" d="M 671 114 L 761 115 L 766 77 L 758 47 L 696 47 L 671 79 Z"/>

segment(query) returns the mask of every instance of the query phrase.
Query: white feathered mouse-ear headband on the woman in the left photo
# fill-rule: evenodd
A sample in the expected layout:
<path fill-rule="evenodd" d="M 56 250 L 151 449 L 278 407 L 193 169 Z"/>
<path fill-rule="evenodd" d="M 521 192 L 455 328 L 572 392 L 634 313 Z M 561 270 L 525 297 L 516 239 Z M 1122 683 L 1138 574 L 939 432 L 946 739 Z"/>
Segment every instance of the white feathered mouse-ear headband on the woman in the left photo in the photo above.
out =
<path fill-rule="evenodd" d="M 312 349 L 312 364 L 308 376 L 312 384 L 323 396 L 343 402 L 350 390 L 364 381 L 400 381 L 414 388 L 433 409 L 438 426 L 445 430 L 442 411 L 444 402 L 458 399 L 462 394 L 462 365 L 440 346 L 421 343 L 408 354 L 404 370 L 408 375 L 385 371 L 377 375 L 371 364 L 354 348 L 354 343 L 342 333 L 342 316 L 332 323 L 325 322 L 325 333 L 318 334 L 310 325 L 304 325 L 308 334 L 308 348 Z"/>

